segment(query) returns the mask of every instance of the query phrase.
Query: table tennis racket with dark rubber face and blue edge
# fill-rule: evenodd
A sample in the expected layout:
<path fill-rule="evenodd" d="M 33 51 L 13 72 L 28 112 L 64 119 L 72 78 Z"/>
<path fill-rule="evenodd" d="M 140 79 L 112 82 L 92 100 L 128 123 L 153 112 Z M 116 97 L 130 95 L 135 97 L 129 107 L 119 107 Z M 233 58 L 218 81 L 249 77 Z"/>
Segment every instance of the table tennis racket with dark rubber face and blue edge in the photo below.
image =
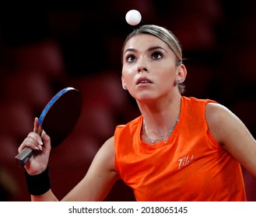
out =
<path fill-rule="evenodd" d="M 82 110 L 82 95 L 75 88 L 64 88 L 51 98 L 38 120 L 38 135 L 44 129 L 51 137 L 51 147 L 58 146 L 71 133 Z M 34 150 L 26 147 L 16 155 L 16 163 L 24 166 Z"/>

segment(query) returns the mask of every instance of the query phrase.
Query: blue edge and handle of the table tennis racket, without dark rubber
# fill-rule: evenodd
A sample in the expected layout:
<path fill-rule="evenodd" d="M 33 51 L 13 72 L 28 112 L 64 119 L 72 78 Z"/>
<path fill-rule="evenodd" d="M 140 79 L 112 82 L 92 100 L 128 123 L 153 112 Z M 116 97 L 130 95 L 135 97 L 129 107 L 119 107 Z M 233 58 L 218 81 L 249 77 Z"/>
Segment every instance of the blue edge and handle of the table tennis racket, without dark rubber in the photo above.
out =
<path fill-rule="evenodd" d="M 75 88 L 64 88 L 61 91 L 59 91 L 56 95 L 54 95 L 53 98 L 51 98 L 51 101 L 47 103 L 47 105 L 44 107 L 43 112 L 40 114 L 40 118 L 38 119 L 38 130 L 37 134 L 40 136 L 42 132 L 42 124 L 44 122 L 44 118 L 47 116 L 47 113 L 51 109 L 52 105 L 54 105 L 54 102 L 58 101 L 58 98 L 60 98 L 62 95 L 65 95 L 68 91 L 77 91 Z M 33 156 L 33 154 L 37 153 L 38 150 L 33 150 L 30 147 L 24 148 L 19 154 L 16 155 L 15 160 L 16 164 L 19 166 L 25 166 L 25 164 L 30 160 L 30 157 Z"/>

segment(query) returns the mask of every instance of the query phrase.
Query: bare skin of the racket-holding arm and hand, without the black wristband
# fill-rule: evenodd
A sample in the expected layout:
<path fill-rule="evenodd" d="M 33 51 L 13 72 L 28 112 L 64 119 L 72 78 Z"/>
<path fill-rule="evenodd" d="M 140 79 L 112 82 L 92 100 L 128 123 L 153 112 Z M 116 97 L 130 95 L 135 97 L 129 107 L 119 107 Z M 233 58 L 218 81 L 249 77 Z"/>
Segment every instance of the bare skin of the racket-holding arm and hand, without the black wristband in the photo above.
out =
<path fill-rule="evenodd" d="M 37 122 L 35 122 L 35 127 L 37 127 Z M 24 146 L 30 146 L 32 149 L 40 147 L 40 143 L 37 141 L 39 138 L 40 136 L 37 133 L 30 133 L 19 149 L 22 150 Z M 42 133 L 41 138 L 44 142 L 43 150 L 40 151 L 40 154 L 34 155 L 25 165 L 29 174 L 40 174 L 47 167 L 47 160 L 51 150 L 50 138 L 46 133 Z M 118 178 L 114 167 L 114 139 L 112 137 L 96 153 L 85 177 L 62 200 L 72 202 L 102 201 Z M 55 197 L 50 189 L 44 195 L 31 195 L 31 201 L 54 202 L 58 201 L 58 198 Z"/>

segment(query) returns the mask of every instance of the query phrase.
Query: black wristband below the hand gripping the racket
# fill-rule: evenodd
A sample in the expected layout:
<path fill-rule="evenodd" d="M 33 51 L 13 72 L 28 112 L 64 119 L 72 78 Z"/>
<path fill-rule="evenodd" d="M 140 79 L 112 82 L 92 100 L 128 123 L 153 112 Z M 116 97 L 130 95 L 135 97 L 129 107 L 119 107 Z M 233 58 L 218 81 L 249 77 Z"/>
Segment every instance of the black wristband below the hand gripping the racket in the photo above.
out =
<path fill-rule="evenodd" d="M 44 195 L 51 188 L 50 170 L 49 167 L 38 175 L 31 176 L 27 172 L 26 185 L 30 195 Z"/>

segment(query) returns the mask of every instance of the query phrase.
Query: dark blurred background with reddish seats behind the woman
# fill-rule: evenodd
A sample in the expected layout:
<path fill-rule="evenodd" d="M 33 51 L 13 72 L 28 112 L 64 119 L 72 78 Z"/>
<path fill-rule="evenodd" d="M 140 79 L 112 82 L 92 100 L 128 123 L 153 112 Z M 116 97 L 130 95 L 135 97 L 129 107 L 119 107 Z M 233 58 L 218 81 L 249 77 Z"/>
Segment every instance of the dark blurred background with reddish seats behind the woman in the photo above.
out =
<path fill-rule="evenodd" d="M 13 5 L 12 5 L 13 6 Z M 135 28 L 125 14 L 137 9 L 140 24 L 165 26 L 181 42 L 187 96 L 226 105 L 256 137 L 256 3 L 251 0 L 130 0 L 69 2 L 45 9 L 0 9 L 0 200 L 30 201 L 17 148 L 33 130 L 48 100 L 72 86 L 83 95 L 81 118 L 52 150 L 52 189 L 62 198 L 86 173 L 117 124 L 139 115 L 121 88 L 121 47 Z M 256 201 L 255 177 L 244 171 L 247 198 Z M 106 201 L 132 201 L 121 181 Z"/>

